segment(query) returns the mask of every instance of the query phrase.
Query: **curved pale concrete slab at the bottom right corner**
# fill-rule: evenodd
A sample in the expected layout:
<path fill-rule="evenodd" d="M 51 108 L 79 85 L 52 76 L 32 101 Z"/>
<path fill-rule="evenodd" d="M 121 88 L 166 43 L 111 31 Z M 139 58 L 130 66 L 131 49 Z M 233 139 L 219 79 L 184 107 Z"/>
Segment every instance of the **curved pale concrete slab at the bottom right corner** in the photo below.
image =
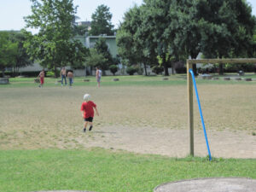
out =
<path fill-rule="evenodd" d="M 157 186 L 154 192 L 255 192 L 256 179 L 243 177 L 197 178 Z"/>

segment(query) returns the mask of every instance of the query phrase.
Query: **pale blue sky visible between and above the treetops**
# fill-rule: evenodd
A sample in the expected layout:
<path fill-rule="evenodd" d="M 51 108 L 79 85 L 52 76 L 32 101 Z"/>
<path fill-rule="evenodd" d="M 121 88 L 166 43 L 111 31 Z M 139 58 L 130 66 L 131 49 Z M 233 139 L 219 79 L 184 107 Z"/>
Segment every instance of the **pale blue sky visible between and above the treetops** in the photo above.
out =
<path fill-rule="evenodd" d="M 253 15 L 256 16 L 256 0 L 247 0 L 253 7 Z M 73 0 L 74 5 L 78 5 L 77 16 L 80 20 L 91 20 L 91 15 L 96 8 L 107 5 L 112 13 L 112 24 L 115 27 L 122 22 L 125 12 L 135 4 L 141 5 L 143 0 Z M 24 16 L 31 15 L 30 0 L 0 0 L 0 31 L 1 30 L 20 30 L 25 27 Z M 33 32 L 33 30 L 31 30 Z"/>

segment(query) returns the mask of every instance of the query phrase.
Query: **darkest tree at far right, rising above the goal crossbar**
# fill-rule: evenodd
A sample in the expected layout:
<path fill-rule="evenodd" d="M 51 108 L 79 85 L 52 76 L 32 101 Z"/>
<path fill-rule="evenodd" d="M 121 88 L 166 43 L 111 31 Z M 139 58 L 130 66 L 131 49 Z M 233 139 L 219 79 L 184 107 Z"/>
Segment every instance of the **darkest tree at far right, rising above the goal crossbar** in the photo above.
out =
<path fill-rule="evenodd" d="M 201 13 L 207 22 L 201 39 L 203 54 L 210 58 L 250 56 L 256 26 L 250 5 L 243 0 L 213 2 L 208 0 L 198 4 L 200 9 L 207 6 L 207 10 L 216 13 L 214 17 Z M 219 68 L 219 73 L 223 74 L 223 65 L 220 64 Z"/>

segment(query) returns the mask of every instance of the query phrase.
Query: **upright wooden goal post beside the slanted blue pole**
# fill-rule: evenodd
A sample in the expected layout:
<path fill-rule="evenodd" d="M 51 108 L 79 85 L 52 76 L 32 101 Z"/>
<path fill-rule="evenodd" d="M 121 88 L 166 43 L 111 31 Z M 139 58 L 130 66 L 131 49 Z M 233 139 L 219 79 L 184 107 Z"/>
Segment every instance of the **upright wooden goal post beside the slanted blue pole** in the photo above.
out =
<path fill-rule="evenodd" d="M 192 63 L 187 60 L 189 154 L 194 156 L 193 81 L 189 69 L 192 69 Z"/>

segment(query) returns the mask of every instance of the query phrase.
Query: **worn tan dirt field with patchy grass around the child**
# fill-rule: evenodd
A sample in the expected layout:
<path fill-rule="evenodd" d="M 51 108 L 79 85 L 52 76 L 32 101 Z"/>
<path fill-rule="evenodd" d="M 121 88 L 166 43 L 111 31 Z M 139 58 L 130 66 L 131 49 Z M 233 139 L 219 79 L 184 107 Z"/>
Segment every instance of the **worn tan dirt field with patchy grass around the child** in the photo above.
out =
<path fill-rule="evenodd" d="M 256 87 L 200 84 L 212 156 L 256 158 Z M 189 154 L 187 88 L 108 86 L 1 88 L 0 149 L 102 147 L 141 154 Z M 90 93 L 100 116 L 84 134 L 79 111 Z M 207 147 L 195 101 L 195 155 Z"/>

